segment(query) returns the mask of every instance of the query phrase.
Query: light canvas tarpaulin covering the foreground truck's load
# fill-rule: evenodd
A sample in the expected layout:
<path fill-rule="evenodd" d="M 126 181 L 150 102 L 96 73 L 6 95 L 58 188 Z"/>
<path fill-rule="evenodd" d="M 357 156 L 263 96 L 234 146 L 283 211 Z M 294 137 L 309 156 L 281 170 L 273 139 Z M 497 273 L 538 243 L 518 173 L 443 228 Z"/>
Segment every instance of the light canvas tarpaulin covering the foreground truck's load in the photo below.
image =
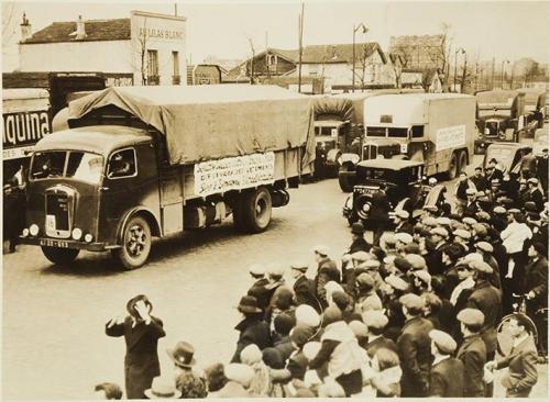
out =
<path fill-rule="evenodd" d="M 275 86 L 113 87 L 69 103 L 69 119 L 114 105 L 166 136 L 170 164 L 306 145 L 315 158 L 311 100 Z"/>

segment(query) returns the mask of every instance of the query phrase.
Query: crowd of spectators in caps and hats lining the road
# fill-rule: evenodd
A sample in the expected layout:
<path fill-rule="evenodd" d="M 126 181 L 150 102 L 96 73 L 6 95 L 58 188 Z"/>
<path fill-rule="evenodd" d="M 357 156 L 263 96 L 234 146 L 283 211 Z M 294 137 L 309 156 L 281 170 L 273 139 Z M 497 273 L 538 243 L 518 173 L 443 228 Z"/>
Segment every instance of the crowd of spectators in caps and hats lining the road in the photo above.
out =
<path fill-rule="evenodd" d="M 506 397 L 528 397 L 547 357 L 548 196 L 494 165 L 461 175 L 452 209 L 397 211 L 375 244 L 358 222 L 338 258 L 319 245 L 315 266 L 250 267 L 230 361 L 198 369 L 180 342 L 161 376 L 163 323 L 132 299 L 106 325 L 125 338 L 127 398 L 481 398 L 499 369 Z"/>

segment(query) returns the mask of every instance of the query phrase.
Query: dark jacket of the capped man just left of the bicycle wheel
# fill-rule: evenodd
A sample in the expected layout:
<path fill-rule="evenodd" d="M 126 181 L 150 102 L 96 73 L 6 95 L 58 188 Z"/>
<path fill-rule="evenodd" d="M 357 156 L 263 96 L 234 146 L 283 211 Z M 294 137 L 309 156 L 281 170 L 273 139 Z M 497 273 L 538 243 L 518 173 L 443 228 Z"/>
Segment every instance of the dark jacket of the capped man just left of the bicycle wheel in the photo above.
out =
<path fill-rule="evenodd" d="M 481 335 L 471 335 L 464 339 L 457 353 L 457 358 L 464 366 L 463 397 L 484 398 L 484 366 L 487 361 L 487 349 Z"/>

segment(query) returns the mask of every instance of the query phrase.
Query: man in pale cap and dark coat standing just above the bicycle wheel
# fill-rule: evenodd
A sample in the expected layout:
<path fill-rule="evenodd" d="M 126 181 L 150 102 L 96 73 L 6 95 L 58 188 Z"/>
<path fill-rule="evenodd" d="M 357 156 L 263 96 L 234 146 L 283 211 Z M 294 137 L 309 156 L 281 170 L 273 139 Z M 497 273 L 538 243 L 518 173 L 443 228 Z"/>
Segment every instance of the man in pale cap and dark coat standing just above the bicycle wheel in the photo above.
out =
<path fill-rule="evenodd" d="M 502 315 L 502 297 L 498 289 L 490 282 L 493 276 L 493 268 L 488 264 L 474 261 L 470 266 L 475 270 L 475 286 L 468 299 L 468 306 L 480 310 L 485 315 L 481 336 L 487 349 L 487 360 L 492 360 L 496 353 L 496 326 Z M 486 388 L 485 397 L 493 397 L 492 384 Z"/>

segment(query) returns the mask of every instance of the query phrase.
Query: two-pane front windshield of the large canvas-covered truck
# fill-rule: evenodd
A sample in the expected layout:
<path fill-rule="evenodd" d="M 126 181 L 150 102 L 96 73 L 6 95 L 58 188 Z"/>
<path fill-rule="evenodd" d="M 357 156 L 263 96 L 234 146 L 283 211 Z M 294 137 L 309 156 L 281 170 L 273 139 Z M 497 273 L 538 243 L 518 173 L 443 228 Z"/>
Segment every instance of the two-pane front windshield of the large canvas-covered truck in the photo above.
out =
<path fill-rule="evenodd" d="M 67 177 L 98 185 L 103 171 L 103 157 L 79 150 L 35 153 L 31 165 L 31 179 Z"/>

